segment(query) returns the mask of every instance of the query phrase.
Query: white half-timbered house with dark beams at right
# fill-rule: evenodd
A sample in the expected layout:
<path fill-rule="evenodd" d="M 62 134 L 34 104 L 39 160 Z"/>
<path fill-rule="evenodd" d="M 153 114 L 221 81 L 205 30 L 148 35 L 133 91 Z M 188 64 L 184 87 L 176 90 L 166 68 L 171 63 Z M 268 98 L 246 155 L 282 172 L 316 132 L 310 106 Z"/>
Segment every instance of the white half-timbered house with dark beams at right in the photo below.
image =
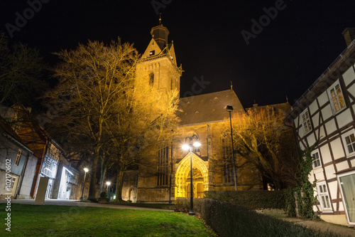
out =
<path fill-rule="evenodd" d="M 352 36 L 351 36 L 351 31 Z M 292 122 L 301 149 L 312 151 L 319 203 L 314 211 L 325 221 L 355 225 L 355 41 L 344 31 L 347 48 L 293 105 Z"/>

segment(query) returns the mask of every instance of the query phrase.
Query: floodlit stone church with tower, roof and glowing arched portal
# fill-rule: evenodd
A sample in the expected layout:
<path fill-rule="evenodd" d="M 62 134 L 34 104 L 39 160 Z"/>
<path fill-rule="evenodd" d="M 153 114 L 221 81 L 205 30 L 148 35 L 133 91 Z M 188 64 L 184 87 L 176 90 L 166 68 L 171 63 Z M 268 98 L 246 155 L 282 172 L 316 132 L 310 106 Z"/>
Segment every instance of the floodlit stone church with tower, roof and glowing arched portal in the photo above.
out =
<path fill-rule="evenodd" d="M 168 43 L 168 28 L 160 24 L 151 29 L 151 42 L 137 65 L 138 75 L 149 77 L 149 83 L 162 92 L 180 90 L 182 66 L 178 67 L 173 41 Z M 204 95 L 180 98 L 178 117 L 170 144 L 162 144 L 151 157 L 153 174 L 144 167 L 126 172 L 122 198 L 133 202 L 172 203 L 177 197 L 190 197 L 190 151 L 182 149 L 187 137 L 194 137 L 200 147 L 192 150 L 193 196 L 203 198 L 207 190 L 234 190 L 231 116 L 245 112 L 232 88 Z M 236 157 L 237 190 L 263 189 L 261 174 L 242 157 Z"/>

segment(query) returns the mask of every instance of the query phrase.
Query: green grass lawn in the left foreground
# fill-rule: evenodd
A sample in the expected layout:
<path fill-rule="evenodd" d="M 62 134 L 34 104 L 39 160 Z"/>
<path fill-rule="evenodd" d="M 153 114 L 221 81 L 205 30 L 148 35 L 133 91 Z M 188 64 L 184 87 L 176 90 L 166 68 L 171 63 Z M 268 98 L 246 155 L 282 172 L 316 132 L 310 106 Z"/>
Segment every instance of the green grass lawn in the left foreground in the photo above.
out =
<path fill-rule="evenodd" d="M 216 236 L 194 216 L 172 211 L 105 209 L 85 206 L 0 204 L 0 236 Z"/>

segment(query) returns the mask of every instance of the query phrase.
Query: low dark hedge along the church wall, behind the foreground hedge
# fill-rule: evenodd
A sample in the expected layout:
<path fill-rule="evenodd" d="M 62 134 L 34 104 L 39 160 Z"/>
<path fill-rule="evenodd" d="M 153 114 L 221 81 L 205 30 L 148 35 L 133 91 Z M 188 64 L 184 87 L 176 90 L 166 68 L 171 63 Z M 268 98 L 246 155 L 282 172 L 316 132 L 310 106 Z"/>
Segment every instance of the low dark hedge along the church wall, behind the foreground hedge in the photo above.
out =
<path fill-rule="evenodd" d="M 204 197 L 227 201 L 249 209 L 284 209 L 283 191 L 204 191 Z"/>

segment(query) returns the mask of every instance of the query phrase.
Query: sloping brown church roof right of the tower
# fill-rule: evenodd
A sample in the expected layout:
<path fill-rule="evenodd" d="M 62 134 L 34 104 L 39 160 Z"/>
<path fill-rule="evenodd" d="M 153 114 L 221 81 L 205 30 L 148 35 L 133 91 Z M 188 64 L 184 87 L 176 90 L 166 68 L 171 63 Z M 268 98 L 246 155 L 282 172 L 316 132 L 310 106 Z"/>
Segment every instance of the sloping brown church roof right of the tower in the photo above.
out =
<path fill-rule="evenodd" d="M 181 110 L 178 112 L 180 126 L 229 120 L 226 105 L 233 106 L 233 113 L 244 112 L 244 107 L 234 90 L 180 98 L 178 107 Z"/>

